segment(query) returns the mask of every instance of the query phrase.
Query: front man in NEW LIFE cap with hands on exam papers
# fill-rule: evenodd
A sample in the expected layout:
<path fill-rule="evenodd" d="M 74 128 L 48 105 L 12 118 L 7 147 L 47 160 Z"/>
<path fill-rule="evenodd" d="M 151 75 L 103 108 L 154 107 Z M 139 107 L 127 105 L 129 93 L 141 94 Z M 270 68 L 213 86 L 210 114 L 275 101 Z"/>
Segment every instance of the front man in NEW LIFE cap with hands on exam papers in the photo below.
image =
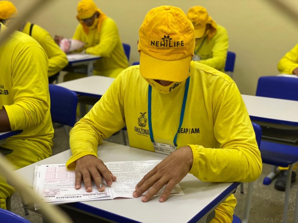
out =
<path fill-rule="evenodd" d="M 202 181 L 248 182 L 261 173 L 262 161 L 254 130 L 235 82 L 222 72 L 191 61 L 194 28 L 173 6 L 150 10 L 139 29 L 140 65 L 120 73 L 99 102 L 72 129 L 75 188 L 82 176 L 87 191 L 91 177 L 100 191 L 101 175 L 108 185 L 116 179 L 97 158 L 97 146 L 124 126 L 130 146 L 169 156 L 137 185 L 133 196 L 148 201 L 163 185 L 166 201 L 173 186 L 191 173 Z M 212 222 L 232 222 L 232 194 L 216 208 Z"/>

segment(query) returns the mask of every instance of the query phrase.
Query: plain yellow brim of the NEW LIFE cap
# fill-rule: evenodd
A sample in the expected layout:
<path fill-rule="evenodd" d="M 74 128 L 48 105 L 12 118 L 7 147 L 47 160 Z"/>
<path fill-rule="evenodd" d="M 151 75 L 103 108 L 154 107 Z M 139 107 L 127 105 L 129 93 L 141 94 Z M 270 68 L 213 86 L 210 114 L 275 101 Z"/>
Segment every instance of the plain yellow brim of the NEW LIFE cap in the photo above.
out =
<path fill-rule="evenodd" d="M 163 61 L 140 52 L 140 73 L 143 78 L 181 82 L 189 76 L 192 55 L 175 61 Z"/>

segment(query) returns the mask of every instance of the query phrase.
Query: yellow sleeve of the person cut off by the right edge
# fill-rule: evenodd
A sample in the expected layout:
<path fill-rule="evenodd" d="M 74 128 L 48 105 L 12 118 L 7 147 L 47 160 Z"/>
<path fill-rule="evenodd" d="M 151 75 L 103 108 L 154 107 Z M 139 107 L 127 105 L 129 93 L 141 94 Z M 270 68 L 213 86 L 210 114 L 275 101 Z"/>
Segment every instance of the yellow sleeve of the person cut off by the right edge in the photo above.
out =
<path fill-rule="evenodd" d="M 283 74 L 293 74 L 293 70 L 298 67 L 298 44 L 287 52 L 277 64 L 277 69 Z"/>

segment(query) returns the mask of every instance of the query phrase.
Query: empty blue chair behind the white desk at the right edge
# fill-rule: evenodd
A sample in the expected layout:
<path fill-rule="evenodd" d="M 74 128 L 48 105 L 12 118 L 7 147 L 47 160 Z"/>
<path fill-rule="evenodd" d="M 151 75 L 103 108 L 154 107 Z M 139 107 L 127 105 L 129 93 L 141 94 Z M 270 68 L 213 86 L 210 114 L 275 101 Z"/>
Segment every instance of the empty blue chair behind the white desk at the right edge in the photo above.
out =
<path fill-rule="evenodd" d="M 256 96 L 298 100 L 298 79 L 279 76 L 260 77 L 258 80 Z M 277 176 L 279 173 L 277 166 L 289 166 L 285 187 L 285 206 L 283 212 L 284 223 L 287 222 L 291 173 L 294 165 L 298 162 L 297 148 L 298 147 L 294 145 L 282 144 L 280 139 L 276 139 L 274 142 L 262 140 L 260 147 L 262 162 L 272 165 L 272 171 L 264 178 L 263 184 L 270 184 L 272 179 Z M 296 198 L 298 198 L 298 194 Z M 298 205 L 296 201 L 294 222 L 298 222 L 297 211 Z"/>

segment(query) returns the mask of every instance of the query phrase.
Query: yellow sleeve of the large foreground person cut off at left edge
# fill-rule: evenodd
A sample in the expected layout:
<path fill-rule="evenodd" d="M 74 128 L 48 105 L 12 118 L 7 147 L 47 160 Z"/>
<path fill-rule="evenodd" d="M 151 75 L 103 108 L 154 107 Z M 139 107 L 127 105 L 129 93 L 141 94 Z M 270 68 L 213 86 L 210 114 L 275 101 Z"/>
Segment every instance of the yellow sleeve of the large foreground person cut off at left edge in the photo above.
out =
<path fill-rule="evenodd" d="M 12 130 L 40 125 L 49 109 L 48 61 L 43 49 L 29 46 L 12 64 L 14 103 L 4 105 Z M 38 74 L 38 75 L 36 75 Z"/>

